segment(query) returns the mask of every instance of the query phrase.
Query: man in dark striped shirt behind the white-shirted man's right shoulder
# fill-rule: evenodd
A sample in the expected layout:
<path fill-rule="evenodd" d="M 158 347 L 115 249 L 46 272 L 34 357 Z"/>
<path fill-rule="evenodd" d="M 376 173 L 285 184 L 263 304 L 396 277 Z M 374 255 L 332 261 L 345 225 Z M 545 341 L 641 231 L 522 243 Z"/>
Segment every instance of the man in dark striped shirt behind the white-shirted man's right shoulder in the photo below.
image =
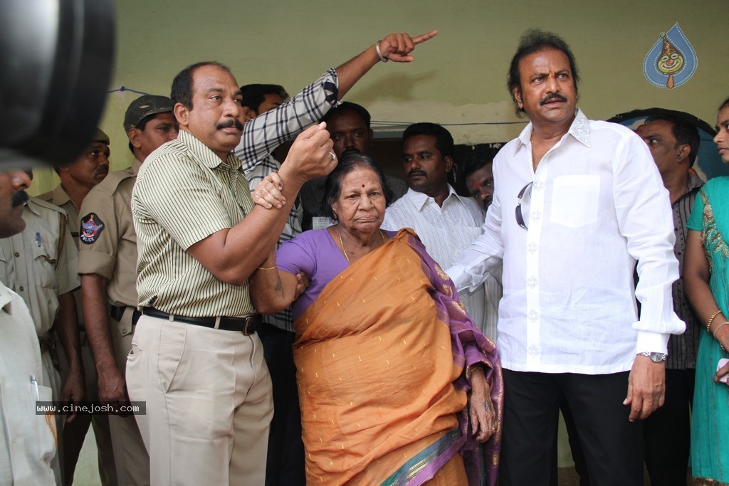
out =
<path fill-rule="evenodd" d="M 640 133 L 671 199 L 676 236 L 674 255 L 679 261 L 679 279 L 672 286 L 674 311 L 686 323 L 683 334 L 671 334 L 668 338 L 666 402 L 643 423 L 645 463 L 652 484 L 685 485 L 701 324 L 684 293 L 683 255 L 688 217 L 703 186 L 703 181 L 691 171 L 700 139 L 696 125 L 686 117 L 672 114 L 650 117 Z"/>

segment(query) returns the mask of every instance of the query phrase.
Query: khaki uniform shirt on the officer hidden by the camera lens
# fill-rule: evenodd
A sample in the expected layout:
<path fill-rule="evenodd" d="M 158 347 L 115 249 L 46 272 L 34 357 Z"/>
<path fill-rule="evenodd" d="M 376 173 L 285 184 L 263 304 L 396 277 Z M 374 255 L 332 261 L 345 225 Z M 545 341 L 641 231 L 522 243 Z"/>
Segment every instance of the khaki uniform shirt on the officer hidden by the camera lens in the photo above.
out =
<path fill-rule="evenodd" d="M 0 239 L 0 281 L 26 301 L 41 336 L 55 321 L 58 296 L 81 284 L 78 256 L 66 211 L 31 197 L 23 219 L 23 232 Z"/>

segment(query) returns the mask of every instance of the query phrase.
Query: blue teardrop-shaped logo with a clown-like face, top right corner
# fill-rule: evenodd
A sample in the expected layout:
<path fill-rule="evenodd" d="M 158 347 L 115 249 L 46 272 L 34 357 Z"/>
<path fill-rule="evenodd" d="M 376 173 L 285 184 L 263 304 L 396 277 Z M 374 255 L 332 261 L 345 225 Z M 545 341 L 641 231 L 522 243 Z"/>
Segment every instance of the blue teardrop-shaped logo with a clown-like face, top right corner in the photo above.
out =
<path fill-rule="evenodd" d="M 643 60 L 643 74 L 651 85 L 669 90 L 687 82 L 695 73 L 698 58 L 693 46 L 676 23 L 661 32 Z"/>

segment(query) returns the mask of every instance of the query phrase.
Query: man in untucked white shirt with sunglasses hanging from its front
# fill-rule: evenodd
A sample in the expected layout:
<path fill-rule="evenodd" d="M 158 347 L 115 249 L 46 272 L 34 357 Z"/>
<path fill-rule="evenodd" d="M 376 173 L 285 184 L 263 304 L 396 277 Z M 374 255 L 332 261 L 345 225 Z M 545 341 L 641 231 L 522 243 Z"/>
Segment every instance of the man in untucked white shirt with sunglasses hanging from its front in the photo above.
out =
<path fill-rule="evenodd" d="M 642 485 L 636 420 L 663 404 L 666 342 L 684 330 L 666 189 L 638 136 L 576 109 L 578 80 L 564 40 L 523 36 L 508 86 L 530 123 L 494 160 L 484 234 L 448 269 L 475 288 L 504 262 L 502 485 L 549 484 L 562 396 L 590 483 Z"/>

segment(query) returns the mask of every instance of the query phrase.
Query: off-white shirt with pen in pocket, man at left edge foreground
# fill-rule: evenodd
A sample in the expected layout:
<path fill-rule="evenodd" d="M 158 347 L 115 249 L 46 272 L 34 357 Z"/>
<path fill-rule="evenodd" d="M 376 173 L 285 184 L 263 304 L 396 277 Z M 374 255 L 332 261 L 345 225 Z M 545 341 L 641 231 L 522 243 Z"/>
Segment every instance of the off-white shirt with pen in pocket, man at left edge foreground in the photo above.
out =
<path fill-rule="evenodd" d="M 25 302 L 1 282 L 0 335 L 0 484 L 55 485 L 55 420 L 35 412 L 36 400 L 51 399 L 38 339 Z"/>

